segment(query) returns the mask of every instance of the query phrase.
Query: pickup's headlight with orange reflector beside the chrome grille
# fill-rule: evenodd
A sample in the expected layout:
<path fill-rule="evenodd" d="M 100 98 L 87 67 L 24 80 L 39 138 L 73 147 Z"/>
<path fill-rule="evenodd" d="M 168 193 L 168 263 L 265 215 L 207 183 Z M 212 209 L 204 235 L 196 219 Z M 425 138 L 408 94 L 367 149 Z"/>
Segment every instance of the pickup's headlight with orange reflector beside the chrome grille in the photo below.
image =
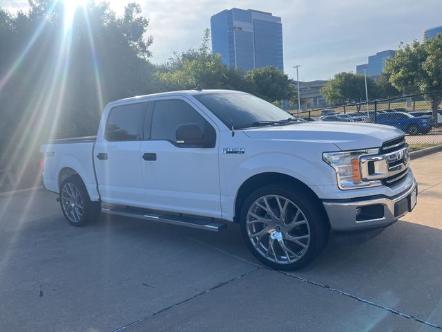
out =
<path fill-rule="evenodd" d="M 363 181 L 361 156 L 376 155 L 379 149 L 358 151 L 324 152 L 323 160 L 336 171 L 338 187 L 342 190 L 381 185 L 381 181 Z"/>

